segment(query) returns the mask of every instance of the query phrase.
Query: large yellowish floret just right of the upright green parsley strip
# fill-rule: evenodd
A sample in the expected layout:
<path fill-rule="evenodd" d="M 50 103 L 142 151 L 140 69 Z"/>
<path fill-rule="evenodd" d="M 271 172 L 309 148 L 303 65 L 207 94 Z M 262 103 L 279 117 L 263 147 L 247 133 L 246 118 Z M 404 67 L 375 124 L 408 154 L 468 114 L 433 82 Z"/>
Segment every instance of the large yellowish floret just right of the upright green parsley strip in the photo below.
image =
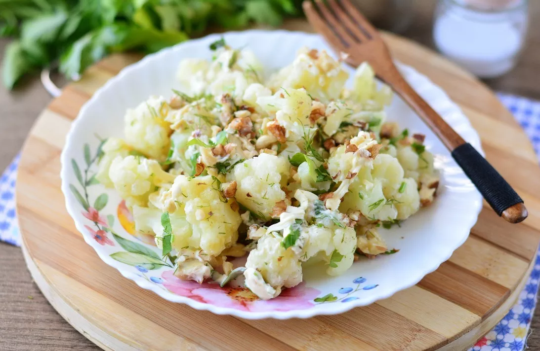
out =
<path fill-rule="evenodd" d="M 177 176 L 171 189 L 161 196 L 160 203 L 171 218 L 185 216 L 191 228 L 172 225 L 173 247 L 200 247 L 204 253 L 218 256 L 232 246 L 238 239 L 238 226 L 242 222 L 238 212 L 231 208 L 232 202 L 221 194 L 215 177 Z"/>

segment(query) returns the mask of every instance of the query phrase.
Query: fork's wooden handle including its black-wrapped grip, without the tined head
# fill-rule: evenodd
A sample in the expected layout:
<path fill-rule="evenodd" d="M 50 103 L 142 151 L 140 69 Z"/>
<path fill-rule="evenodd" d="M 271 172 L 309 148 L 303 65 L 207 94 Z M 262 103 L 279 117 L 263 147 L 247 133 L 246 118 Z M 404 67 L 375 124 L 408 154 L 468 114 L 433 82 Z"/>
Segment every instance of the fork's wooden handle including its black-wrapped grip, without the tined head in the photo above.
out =
<path fill-rule="evenodd" d="M 397 69 L 395 73 L 390 75 L 390 79 L 381 79 L 392 86 L 439 137 L 497 215 L 510 223 L 519 223 L 527 218 L 527 208 L 510 184 L 414 91 Z"/>

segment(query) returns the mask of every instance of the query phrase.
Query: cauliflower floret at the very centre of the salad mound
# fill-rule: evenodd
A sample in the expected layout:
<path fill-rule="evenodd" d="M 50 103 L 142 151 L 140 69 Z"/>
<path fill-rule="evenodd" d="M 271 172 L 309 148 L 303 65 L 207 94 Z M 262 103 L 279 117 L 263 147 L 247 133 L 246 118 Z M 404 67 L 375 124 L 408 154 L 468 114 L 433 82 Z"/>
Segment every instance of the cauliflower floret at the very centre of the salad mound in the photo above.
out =
<path fill-rule="evenodd" d="M 227 181 L 237 182 L 237 201 L 253 214 L 269 219 L 276 202 L 285 199 L 290 164 L 283 157 L 260 154 L 234 166 Z"/>

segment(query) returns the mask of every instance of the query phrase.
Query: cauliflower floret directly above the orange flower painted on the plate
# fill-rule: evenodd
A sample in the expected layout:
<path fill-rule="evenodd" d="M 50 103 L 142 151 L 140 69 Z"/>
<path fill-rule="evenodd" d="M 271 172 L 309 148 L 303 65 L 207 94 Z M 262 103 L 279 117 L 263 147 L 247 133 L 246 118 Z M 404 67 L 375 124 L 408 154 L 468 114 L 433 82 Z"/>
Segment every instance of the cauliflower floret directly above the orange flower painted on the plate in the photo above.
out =
<path fill-rule="evenodd" d="M 146 206 L 149 195 L 174 181 L 174 175 L 161 169 L 155 160 L 140 156 L 117 156 L 111 162 L 109 178 L 127 207 Z"/>

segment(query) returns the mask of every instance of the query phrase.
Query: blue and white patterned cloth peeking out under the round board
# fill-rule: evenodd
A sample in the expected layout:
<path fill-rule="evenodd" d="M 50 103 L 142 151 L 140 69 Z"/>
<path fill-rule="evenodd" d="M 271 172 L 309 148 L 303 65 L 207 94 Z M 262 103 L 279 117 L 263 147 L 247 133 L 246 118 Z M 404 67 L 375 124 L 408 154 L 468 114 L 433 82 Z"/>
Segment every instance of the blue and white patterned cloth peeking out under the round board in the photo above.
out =
<path fill-rule="evenodd" d="M 509 94 L 498 94 L 498 97 L 514 114 L 529 136 L 536 154 L 540 156 L 540 101 Z M 15 179 L 18 162 L 17 155 L 0 178 L 0 241 L 20 246 L 21 236 L 15 216 Z M 540 253 L 537 253 L 534 270 L 519 295 L 517 304 L 469 351 L 522 351 L 527 342 L 539 284 Z"/>

